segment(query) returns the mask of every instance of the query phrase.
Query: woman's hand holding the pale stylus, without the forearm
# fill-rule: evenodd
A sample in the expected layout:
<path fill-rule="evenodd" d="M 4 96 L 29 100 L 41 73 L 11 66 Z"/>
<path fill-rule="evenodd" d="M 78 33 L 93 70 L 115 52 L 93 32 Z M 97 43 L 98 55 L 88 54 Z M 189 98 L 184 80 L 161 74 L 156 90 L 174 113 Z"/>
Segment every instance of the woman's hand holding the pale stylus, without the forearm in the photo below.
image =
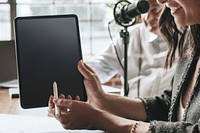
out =
<path fill-rule="evenodd" d="M 60 110 L 55 118 L 65 129 L 94 129 L 98 110 L 86 102 L 70 99 L 53 99 L 53 103 Z"/>

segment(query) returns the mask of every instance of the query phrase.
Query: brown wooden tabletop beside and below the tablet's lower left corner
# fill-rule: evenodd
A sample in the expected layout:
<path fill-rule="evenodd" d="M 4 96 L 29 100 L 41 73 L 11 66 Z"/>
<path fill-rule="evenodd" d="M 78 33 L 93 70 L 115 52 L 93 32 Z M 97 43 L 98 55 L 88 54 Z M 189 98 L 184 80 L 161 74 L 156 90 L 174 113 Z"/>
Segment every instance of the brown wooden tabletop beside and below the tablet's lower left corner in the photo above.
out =
<path fill-rule="evenodd" d="M 48 116 L 48 108 L 23 109 L 19 98 L 11 98 L 9 89 L 0 88 L 0 113 Z"/>

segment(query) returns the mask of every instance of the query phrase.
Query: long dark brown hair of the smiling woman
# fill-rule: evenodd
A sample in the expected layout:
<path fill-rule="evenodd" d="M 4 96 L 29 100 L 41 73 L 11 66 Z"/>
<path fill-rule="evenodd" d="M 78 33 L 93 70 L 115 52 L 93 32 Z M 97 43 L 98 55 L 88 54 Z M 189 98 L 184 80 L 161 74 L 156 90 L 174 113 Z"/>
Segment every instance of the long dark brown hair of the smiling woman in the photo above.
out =
<path fill-rule="evenodd" d="M 170 68 L 178 50 L 180 59 L 191 53 L 200 53 L 200 25 L 195 24 L 178 28 L 169 8 L 165 8 L 160 18 L 160 30 L 168 42 L 169 50 L 165 61 L 165 68 Z"/>

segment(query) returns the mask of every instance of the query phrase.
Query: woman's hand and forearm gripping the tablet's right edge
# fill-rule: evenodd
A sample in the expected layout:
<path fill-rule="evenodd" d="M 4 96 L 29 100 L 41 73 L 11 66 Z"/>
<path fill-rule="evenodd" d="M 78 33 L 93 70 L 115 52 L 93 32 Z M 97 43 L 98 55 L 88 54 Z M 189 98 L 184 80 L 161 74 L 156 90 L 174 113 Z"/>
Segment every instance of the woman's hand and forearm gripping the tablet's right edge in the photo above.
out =
<path fill-rule="evenodd" d="M 136 120 L 146 119 L 146 110 L 142 100 L 106 94 L 101 88 L 97 75 L 88 65 L 80 61 L 78 69 L 84 76 L 88 103 L 121 117 Z"/>

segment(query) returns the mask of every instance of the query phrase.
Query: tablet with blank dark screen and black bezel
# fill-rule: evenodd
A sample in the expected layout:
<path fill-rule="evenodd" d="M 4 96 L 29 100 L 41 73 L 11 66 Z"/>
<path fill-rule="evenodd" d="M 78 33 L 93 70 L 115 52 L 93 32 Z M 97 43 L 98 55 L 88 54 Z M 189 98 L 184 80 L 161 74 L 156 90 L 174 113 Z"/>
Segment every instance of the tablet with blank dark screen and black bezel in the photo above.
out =
<path fill-rule="evenodd" d="M 47 106 L 54 81 L 59 94 L 86 101 L 83 76 L 77 69 L 82 59 L 77 16 L 16 17 L 14 25 L 22 108 Z"/>

